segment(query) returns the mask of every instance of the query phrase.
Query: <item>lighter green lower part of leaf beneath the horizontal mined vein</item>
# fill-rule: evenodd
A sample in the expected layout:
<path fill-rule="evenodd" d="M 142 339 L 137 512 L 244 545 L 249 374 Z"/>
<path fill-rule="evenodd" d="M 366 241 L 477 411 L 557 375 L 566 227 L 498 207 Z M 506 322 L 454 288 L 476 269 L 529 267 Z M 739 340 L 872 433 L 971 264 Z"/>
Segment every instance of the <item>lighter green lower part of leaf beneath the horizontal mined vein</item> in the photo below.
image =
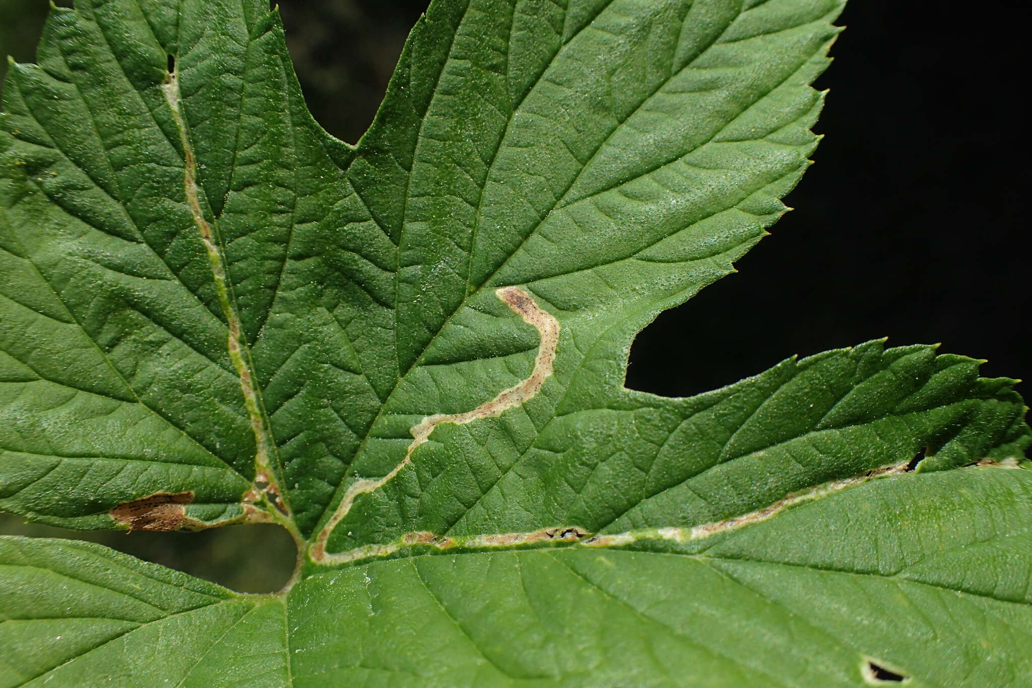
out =
<path fill-rule="evenodd" d="M 285 599 L 4 538 L 4 685 L 851 686 L 869 659 L 1021 685 L 1030 500 L 1024 470 L 888 478 L 687 546 L 407 557 Z"/>

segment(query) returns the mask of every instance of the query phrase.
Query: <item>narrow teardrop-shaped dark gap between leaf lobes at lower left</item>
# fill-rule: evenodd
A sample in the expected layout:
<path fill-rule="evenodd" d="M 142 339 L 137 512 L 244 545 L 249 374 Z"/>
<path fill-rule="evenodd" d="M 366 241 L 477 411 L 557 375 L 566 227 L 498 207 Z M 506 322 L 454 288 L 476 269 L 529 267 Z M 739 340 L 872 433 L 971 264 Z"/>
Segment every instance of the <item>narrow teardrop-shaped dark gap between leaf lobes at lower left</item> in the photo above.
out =
<path fill-rule="evenodd" d="M 82 531 L 22 523 L 19 516 L 0 514 L 0 534 L 99 543 L 236 592 L 281 590 L 293 572 L 297 556 L 290 534 L 272 524 L 226 526 L 199 532 Z"/>

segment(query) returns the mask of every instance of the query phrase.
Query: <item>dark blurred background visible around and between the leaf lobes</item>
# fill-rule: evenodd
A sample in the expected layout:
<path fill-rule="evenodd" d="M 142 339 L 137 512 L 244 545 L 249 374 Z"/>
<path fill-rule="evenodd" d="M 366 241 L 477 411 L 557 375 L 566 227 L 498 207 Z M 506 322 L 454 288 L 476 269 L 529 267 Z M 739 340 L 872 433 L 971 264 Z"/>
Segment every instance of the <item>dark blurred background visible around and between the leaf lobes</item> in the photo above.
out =
<path fill-rule="evenodd" d="M 328 131 L 358 139 L 426 4 L 281 0 L 301 85 Z M 0 0 L 0 53 L 31 60 L 46 6 Z M 1017 22 L 1010 7 L 1006 21 Z M 738 274 L 638 337 L 628 387 L 694 394 L 792 354 L 882 336 L 987 358 L 987 375 L 1032 376 L 1023 325 L 1028 114 L 1019 104 L 1027 48 L 1000 18 L 853 0 L 817 85 L 832 88 L 817 125 L 828 137 L 787 199 L 799 209 L 739 261 Z M 68 536 L 10 517 L 0 531 Z M 245 591 L 277 588 L 293 559 L 270 526 L 90 537 Z"/>

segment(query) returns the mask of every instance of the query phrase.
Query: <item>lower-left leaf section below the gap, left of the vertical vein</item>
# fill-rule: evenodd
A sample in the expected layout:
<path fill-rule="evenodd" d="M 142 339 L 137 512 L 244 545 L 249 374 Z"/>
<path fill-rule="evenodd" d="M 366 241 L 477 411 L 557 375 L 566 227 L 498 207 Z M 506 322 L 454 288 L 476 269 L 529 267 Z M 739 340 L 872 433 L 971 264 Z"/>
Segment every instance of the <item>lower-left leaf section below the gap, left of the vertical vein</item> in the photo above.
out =
<path fill-rule="evenodd" d="M 87 543 L 0 538 L 2 685 L 287 683 L 284 603 Z M 237 681 L 233 674 L 246 666 Z M 119 684 L 121 685 L 121 684 Z"/>

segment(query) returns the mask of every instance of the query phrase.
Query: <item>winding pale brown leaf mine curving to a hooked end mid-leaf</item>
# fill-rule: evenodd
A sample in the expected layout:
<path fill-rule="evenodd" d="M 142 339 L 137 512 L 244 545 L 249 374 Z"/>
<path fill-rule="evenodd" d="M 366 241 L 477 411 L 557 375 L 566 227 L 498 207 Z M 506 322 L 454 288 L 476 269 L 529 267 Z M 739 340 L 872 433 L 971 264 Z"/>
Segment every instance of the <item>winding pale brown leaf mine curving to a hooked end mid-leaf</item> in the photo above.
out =
<path fill-rule="evenodd" d="M 356 481 L 348 491 L 345 492 L 344 498 L 337 505 L 336 510 L 333 512 L 333 516 L 330 517 L 326 525 L 319 532 L 316 537 L 315 543 L 310 551 L 310 557 L 312 560 L 319 564 L 340 564 L 347 561 L 352 561 L 355 558 L 354 550 L 352 552 L 342 552 L 338 554 L 328 554 L 326 552 L 326 542 L 329 539 L 329 535 L 333 532 L 333 528 L 348 515 L 351 511 L 352 505 L 355 503 L 355 499 L 360 494 L 367 494 L 374 492 L 379 488 L 387 484 L 391 479 L 397 476 L 402 468 L 405 468 L 412 461 L 412 453 L 416 449 L 426 443 L 430 437 L 430 433 L 444 423 L 451 423 L 453 425 L 464 425 L 465 423 L 472 423 L 481 418 L 493 418 L 501 416 L 504 412 L 512 408 L 514 406 L 519 406 L 529 399 L 534 398 L 538 392 L 541 391 L 542 386 L 545 381 L 552 374 L 552 364 L 555 360 L 555 349 L 559 342 L 559 321 L 555 319 L 547 310 L 544 310 L 538 305 L 537 301 L 527 294 L 522 289 L 518 287 L 503 287 L 494 292 L 495 296 L 502 299 L 510 308 L 513 309 L 520 318 L 523 319 L 527 325 L 535 327 L 541 334 L 541 345 L 538 348 L 538 356 L 535 359 L 534 370 L 530 375 L 523 382 L 510 387 L 507 390 L 498 392 L 490 401 L 485 401 L 473 411 L 467 411 L 463 414 L 436 414 L 433 416 L 427 416 L 422 421 L 412 426 L 409 432 L 412 434 L 413 440 L 406 450 L 405 458 L 398 463 L 394 468 L 378 480 L 359 480 Z M 372 548 L 389 548 L 390 545 L 374 545 Z M 364 550 L 366 548 L 359 548 Z"/>

